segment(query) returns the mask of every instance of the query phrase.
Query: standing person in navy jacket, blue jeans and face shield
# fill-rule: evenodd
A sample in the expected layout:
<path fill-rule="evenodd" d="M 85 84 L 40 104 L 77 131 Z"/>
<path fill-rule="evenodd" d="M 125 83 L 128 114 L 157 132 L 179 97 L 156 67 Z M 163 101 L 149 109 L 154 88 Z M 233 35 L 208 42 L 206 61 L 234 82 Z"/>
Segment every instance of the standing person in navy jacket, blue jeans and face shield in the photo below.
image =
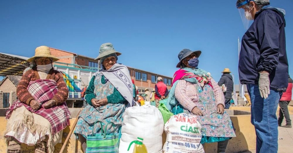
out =
<path fill-rule="evenodd" d="M 253 20 L 242 38 L 239 78 L 251 97 L 251 123 L 256 132 L 256 153 L 277 153 L 276 110 L 288 85 L 285 11 L 266 7 L 270 0 L 237 0 L 236 7 Z"/>

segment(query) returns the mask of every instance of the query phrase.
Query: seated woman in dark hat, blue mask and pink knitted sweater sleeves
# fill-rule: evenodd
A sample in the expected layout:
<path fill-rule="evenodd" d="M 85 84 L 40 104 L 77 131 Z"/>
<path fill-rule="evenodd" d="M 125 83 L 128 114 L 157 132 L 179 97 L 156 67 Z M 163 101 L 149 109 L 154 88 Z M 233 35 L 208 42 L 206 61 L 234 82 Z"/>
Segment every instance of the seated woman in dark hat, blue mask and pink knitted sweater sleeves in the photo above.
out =
<path fill-rule="evenodd" d="M 221 88 L 210 73 L 198 68 L 200 55 L 201 51 L 189 49 L 179 53 L 176 67 L 180 69 L 173 76 L 168 101 L 174 114 L 187 113 L 198 117 L 202 144 L 218 142 L 218 153 L 225 153 L 229 139 L 236 135 L 224 110 L 225 98 Z"/>

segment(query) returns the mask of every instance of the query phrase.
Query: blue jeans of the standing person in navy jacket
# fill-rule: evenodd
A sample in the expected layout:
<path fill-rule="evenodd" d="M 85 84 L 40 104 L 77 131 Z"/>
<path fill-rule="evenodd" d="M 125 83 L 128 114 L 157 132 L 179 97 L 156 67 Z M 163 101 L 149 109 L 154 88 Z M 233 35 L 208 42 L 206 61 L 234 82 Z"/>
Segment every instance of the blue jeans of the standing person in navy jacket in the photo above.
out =
<path fill-rule="evenodd" d="M 251 123 L 256 133 L 256 153 L 278 152 L 278 121 L 276 111 L 280 92 L 270 90 L 268 98 L 260 96 L 258 84 L 247 84 L 251 97 Z"/>

